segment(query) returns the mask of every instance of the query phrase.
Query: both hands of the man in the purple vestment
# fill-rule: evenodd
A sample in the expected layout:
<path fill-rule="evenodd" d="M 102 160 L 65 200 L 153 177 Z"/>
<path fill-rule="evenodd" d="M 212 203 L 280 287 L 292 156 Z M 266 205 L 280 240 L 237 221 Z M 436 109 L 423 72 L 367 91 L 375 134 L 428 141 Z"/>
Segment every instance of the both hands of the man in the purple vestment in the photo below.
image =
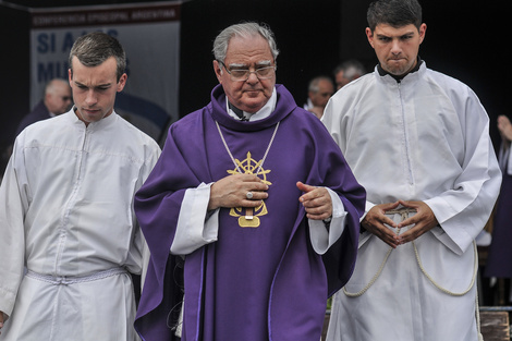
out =
<path fill-rule="evenodd" d="M 306 209 L 307 218 L 320 220 L 332 215 L 332 202 L 329 192 L 324 187 L 315 187 L 302 182 L 297 188 L 304 192 L 298 198 Z M 220 179 L 210 187 L 208 210 L 219 207 L 258 207 L 268 197 L 268 185 L 253 174 L 233 174 Z M 252 197 L 247 197 L 247 193 Z"/>

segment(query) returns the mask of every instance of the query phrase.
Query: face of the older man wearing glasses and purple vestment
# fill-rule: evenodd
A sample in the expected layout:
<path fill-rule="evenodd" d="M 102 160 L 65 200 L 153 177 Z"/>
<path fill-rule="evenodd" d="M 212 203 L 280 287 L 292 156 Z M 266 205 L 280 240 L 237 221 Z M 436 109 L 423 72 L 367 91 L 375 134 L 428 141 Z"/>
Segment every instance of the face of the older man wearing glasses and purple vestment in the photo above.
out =
<path fill-rule="evenodd" d="M 276 73 L 272 72 L 270 78 L 260 80 L 256 73 L 252 72 L 246 81 L 233 81 L 225 69 L 255 71 L 273 65 L 275 60 L 270 47 L 259 35 L 231 38 L 223 64 L 214 61 L 215 73 L 229 101 L 236 108 L 251 113 L 261 109 L 270 99 L 276 85 Z"/>

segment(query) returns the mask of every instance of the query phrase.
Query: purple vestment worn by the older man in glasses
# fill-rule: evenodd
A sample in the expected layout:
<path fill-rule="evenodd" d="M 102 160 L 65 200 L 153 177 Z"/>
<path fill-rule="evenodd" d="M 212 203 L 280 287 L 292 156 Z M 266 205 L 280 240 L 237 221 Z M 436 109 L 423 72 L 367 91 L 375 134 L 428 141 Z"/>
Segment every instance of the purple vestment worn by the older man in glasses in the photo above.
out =
<path fill-rule="evenodd" d="M 215 121 L 242 172 L 261 160 L 281 123 L 260 172 L 269 196 L 254 211 L 258 227 L 242 227 L 243 210 L 221 209 L 218 241 L 185 257 L 182 340 L 320 339 L 326 300 L 354 268 L 365 191 L 321 122 L 297 108 L 284 86 L 276 88 L 276 110 L 267 119 L 229 117 L 218 85 L 208 106 L 170 127 L 162 155 L 135 198 L 151 252 L 135 322 L 143 340 L 173 340 L 168 317 L 181 289 L 173 285 L 179 267 L 169 249 L 185 191 L 234 170 Z M 348 212 L 342 236 L 324 256 L 310 245 L 297 181 L 330 187 Z"/>

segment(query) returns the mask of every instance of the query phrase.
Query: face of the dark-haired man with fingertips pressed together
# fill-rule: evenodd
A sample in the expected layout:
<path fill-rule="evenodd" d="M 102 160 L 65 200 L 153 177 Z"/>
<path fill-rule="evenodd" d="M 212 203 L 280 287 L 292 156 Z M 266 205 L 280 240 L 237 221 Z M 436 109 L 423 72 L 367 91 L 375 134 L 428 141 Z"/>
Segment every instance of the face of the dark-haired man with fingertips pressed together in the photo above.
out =
<path fill-rule="evenodd" d="M 426 29 L 426 24 L 422 24 L 419 29 L 413 24 L 401 27 L 379 24 L 374 32 L 367 27 L 366 36 L 380 66 L 392 75 L 403 76 L 416 66 Z"/>

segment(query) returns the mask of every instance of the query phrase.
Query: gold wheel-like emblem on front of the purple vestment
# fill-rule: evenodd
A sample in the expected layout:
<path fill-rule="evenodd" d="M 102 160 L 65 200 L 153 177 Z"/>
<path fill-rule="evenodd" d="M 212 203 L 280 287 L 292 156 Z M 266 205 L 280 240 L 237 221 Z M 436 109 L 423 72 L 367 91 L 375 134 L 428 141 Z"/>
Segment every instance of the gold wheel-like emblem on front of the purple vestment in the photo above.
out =
<path fill-rule="evenodd" d="M 270 170 L 265 170 L 263 168 L 263 159 L 256 161 L 251 157 L 251 151 L 247 151 L 247 158 L 245 160 L 240 161 L 239 159 L 234 159 L 237 167 L 233 170 L 228 170 L 230 174 L 237 174 L 239 170 L 243 171 L 244 174 L 256 174 L 261 181 L 267 184 L 271 185 L 272 183 L 267 180 L 267 174 Z M 257 170 L 257 171 L 256 171 Z M 255 173 L 256 171 L 256 173 Z M 267 205 L 265 202 L 261 200 L 261 205 L 256 208 L 253 207 L 233 207 L 230 210 L 230 216 L 239 218 L 239 226 L 241 228 L 257 228 L 259 227 L 259 217 L 266 216 Z"/>

